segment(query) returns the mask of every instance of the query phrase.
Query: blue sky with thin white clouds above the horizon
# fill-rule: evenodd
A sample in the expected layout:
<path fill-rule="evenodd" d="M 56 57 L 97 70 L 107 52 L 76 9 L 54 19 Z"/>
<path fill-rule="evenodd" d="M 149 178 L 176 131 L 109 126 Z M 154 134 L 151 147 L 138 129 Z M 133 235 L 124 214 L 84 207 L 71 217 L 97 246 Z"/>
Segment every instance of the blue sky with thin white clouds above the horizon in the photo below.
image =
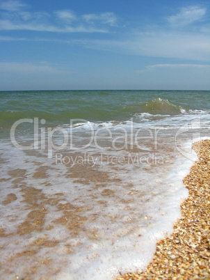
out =
<path fill-rule="evenodd" d="M 210 2 L 0 0 L 0 91 L 210 90 Z"/>

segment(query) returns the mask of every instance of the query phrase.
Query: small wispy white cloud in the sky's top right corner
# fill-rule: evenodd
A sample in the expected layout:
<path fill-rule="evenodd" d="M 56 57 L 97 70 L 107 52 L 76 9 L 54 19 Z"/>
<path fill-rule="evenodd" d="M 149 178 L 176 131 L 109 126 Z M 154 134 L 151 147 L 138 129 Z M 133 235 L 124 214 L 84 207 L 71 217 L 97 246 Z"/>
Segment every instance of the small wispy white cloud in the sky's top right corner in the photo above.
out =
<path fill-rule="evenodd" d="M 168 22 L 170 22 L 172 26 L 188 25 L 193 22 L 197 22 L 197 20 L 201 20 L 206 12 L 206 8 L 201 8 L 199 6 L 188 6 L 185 8 L 181 8 L 180 12 L 177 13 L 177 15 L 171 15 L 170 17 L 168 17 Z"/>

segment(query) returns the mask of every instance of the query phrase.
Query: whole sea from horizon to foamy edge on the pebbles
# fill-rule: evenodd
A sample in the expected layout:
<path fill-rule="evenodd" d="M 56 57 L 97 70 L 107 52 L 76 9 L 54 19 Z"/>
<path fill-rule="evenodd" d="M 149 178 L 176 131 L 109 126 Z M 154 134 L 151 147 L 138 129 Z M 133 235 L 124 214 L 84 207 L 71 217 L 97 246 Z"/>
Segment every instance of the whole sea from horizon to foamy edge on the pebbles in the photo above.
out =
<path fill-rule="evenodd" d="M 1 91 L 0 279 L 143 270 L 188 197 L 210 91 Z"/>

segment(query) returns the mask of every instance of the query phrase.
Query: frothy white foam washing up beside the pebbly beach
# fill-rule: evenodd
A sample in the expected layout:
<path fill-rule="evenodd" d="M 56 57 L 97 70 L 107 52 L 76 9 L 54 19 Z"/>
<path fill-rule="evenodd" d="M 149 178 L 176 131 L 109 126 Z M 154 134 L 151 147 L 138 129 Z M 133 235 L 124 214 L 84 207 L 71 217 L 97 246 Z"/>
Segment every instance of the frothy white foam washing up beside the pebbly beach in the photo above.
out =
<path fill-rule="evenodd" d="M 108 124 L 108 127 L 111 125 Z M 127 125 L 128 123 L 125 127 Z M 114 132 L 115 137 L 118 137 L 118 130 L 113 130 Z M 59 203 L 71 203 L 75 207 L 86 208 L 86 212 L 81 213 L 86 220 L 79 229 L 78 235 L 73 237 L 65 225 L 57 224 L 47 229 L 51 223 L 63 216 L 63 211 L 58 210 L 56 205 L 46 203 L 45 226 L 41 232 L 34 231 L 28 235 L 11 235 L 11 237 L 2 238 L 4 244 L 9 244 L 1 254 L 3 263 L 7 264 L 8 258 L 29 249 L 36 239 L 47 237 L 48 240 L 55 240 L 58 243 L 55 243 L 54 247 L 35 247 L 37 254 L 28 258 L 27 261 L 25 258 L 17 258 L 18 267 L 14 267 L 14 273 L 20 278 L 25 276 L 26 267 L 30 267 L 44 256 L 50 257 L 52 262 L 48 267 L 39 268 L 38 274 L 35 274 L 33 279 L 47 277 L 105 280 L 118 276 L 119 272 L 143 270 L 152 260 L 156 241 L 165 235 L 170 235 L 173 223 L 181 217 L 180 203 L 188 196 L 182 180 L 189 172 L 193 161 L 197 159 L 194 152 L 188 153 L 192 141 L 185 140 L 182 143 L 182 150 L 189 154 L 186 157 L 186 153 L 181 154 L 177 150 L 168 152 L 174 144 L 171 142 L 174 137 L 170 138 L 167 134 L 163 136 L 161 139 L 163 143 L 159 143 L 155 152 L 156 157 L 163 155 L 164 164 L 152 162 L 150 145 L 153 143 L 148 143 L 146 139 L 141 143 L 145 149 L 138 149 L 137 152 L 131 150 L 131 156 L 138 155 L 141 159 L 145 157 L 147 160 L 150 156 L 150 161 L 132 162 L 130 160 L 130 162 L 120 164 L 118 161 L 112 163 L 99 160 L 94 166 L 96 171 L 104 172 L 108 177 L 102 180 L 96 175 L 96 182 L 90 180 L 89 184 L 83 184 L 80 180 L 75 182 L 75 177 L 67 178 L 71 168 L 65 164 L 55 165 L 55 157 L 48 159 L 45 153 L 41 153 L 43 151 L 37 151 L 37 156 L 32 157 L 22 150 L 13 148 L 9 143 L 2 142 L 1 156 L 6 163 L 3 164 L 1 178 L 9 180 L 3 182 L 1 202 L 11 192 L 17 196 L 16 201 L 0 206 L 1 224 L 6 233 L 15 233 L 17 226 L 22 224 L 31 211 L 27 203 L 20 203 L 23 200 L 20 189 L 11 189 L 13 178 L 10 179 L 8 176 L 10 169 L 26 169 L 26 178 L 23 178 L 23 183 L 29 187 L 41 189 L 42 194 L 48 199 L 55 198 L 56 193 L 61 192 L 64 196 L 60 197 Z M 59 153 L 64 152 L 65 155 L 69 155 L 68 153 L 76 155 L 68 148 L 59 150 Z M 98 153 L 102 156 L 102 152 L 106 152 L 107 157 L 117 159 L 125 153 L 129 157 L 129 153 L 125 150 L 111 149 L 104 152 L 97 150 L 94 146 L 86 148 L 86 153 L 90 155 Z M 56 151 L 53 155 L 55 153 Z M 132 157 L 133 160 L 134 157 Z M 33 177 L 38 166 L 49 167 L 48 178 Z M 86 171 L 86 169 L 81 170 L 83 170 L 81 173 Z M 81 178 L 83 177 L 79 177 Z M 47 183 L 50 185 L 46 187 Z M 95 188 L 96 184 L 97 188 Z M 113 194 L 103 196 L 104 189 L 110 189 Z M 38 203 L 41 201 L 40 199 Z M 104 201 L 106 206 L 98 201 Z M 66 254 L 66 245 L 72 249 L 71 254 Z M 56 268 L 60 268 L 60 272 L 54 276 L 53 272 Z M 2 276 L 7 277 L 6 274 Z"/>

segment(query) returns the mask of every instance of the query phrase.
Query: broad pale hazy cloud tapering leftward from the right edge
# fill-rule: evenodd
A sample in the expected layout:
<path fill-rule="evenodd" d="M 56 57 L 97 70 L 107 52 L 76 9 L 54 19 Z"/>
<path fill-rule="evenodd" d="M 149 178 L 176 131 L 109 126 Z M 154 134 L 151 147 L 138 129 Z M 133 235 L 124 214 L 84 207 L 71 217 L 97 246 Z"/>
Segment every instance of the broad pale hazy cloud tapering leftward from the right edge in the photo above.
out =
<path fill-rule="evenodd" d="M 210 38 L 202 33 L 133 33 L 126 40 L 75 40 L 75 44 L 136 56 L 210 61 Z"/>

